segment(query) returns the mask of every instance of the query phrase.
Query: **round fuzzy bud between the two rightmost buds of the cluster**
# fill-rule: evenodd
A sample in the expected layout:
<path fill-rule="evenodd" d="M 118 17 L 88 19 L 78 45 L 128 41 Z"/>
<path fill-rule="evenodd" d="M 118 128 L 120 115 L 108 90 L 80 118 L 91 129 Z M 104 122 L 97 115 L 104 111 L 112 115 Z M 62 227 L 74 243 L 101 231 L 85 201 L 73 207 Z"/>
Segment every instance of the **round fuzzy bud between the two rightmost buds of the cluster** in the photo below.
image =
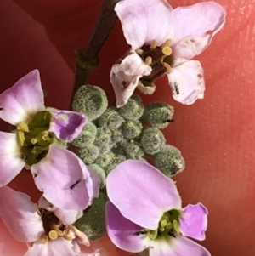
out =
<path fill-rule="evenodd" d="M 147 154 L 155 155 L 165 145 L 166 139 L 158 128 L 145 128 L 142 134 L 141 145 Z"/>

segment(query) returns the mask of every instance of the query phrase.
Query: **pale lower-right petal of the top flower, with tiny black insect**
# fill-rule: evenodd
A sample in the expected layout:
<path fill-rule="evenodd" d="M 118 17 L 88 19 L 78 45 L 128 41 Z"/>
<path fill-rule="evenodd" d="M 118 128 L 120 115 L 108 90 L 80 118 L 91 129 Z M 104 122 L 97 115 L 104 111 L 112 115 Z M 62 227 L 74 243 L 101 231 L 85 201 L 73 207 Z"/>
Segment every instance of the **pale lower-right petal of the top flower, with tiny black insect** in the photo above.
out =
<path fill-rule="evenodd" d="M 190 105 L 195 100 L 204 98 L 204 71 L 199 61 L 190 60 L 176 65 L 167 77 L 174 100 Z"/>

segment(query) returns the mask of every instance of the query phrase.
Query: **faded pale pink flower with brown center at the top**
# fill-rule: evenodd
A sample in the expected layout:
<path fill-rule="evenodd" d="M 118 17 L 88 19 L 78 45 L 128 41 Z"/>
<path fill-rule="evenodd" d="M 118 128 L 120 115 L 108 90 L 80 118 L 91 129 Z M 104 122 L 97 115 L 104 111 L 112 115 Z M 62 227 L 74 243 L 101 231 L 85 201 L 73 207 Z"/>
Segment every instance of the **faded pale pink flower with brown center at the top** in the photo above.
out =
<path fill-rule="evenodd" d="M 153 82 L 166 73 L 174 100 L 190 105 L 202 99 L 203 69 L 199 61 L 190 59 L 201 54 L 224 26 L 224 9 L 213 2 L 172 9 L 165 0 L 123 0 L 115 10 L 127 43 L 135 51 L 111 70 L 117 106 L 127 102 L 139 83 L 153 87 Z M 133 65 L 133 71 L 129 68 L 126 72 L 127 66 L 138 63 L 138 56 L 144 61 L 143 69 Z"/>

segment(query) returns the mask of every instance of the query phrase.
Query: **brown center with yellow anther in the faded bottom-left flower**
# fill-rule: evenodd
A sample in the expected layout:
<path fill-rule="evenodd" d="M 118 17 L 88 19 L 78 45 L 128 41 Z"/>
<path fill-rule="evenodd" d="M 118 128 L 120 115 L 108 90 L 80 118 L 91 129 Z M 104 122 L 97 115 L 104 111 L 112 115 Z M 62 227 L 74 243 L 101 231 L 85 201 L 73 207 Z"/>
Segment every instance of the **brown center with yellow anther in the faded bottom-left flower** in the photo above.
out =
<path fill-rule="evenodd" d="M 48 239 L 55 240 L 58 237 L 63 237 L 66 240 L 71 240 L 71 236 L 68 236 L 68 227 L 63 225 L 59 218 L 54 213 L 45 209 L 39 209 L 39 214 L 42 216 L 42 224 L 45 233 L 42 234 L 42 243 L 48 242 Z"/>

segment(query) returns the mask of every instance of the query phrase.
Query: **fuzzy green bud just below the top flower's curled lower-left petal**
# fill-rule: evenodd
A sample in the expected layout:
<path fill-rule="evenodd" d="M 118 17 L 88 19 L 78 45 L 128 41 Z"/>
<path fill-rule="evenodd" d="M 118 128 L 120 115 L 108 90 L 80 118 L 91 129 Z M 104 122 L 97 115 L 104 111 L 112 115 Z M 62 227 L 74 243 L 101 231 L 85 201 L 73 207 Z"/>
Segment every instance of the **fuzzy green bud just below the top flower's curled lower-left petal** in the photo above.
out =
<path fill-rule="evenodd" d="M 133 94 L 127 101 L 127 104 L 123 105 L 118 110 L 122 114 L 122 117 L 136 120 L 144 114 L 144 105 L 139 95 Z"/>

